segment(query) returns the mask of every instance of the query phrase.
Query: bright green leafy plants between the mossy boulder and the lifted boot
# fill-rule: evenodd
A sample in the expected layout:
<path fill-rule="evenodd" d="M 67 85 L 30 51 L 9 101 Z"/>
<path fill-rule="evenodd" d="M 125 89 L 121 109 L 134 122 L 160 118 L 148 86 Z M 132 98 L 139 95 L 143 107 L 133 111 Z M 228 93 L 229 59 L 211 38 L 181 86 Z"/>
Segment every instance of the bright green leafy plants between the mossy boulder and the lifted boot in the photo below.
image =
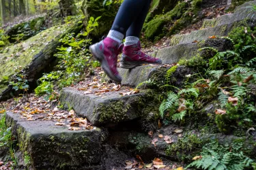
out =
<path fill-rule="evenodd" d="M 89 33 L 98 27 L 99 19 L 100 17 L 96 19 L 91 17 L 85 31 L 78 35 L 70 33 L 59 40 L 63 45 L 57 48 L 58 52 L 55 54 L 58 58 L 58 71 L 44 74 L 40 78 L 40 85 L 35 89 L 36 95 L 47 94 L 52 98 L 55 86 L 57 88 L 70 86 L 81 80 L 86 69 L 91 69 L 91 66 L 99 66 L 97 61 L 92 60 L 88 50 L 89 44 L 91 44 Z"/>

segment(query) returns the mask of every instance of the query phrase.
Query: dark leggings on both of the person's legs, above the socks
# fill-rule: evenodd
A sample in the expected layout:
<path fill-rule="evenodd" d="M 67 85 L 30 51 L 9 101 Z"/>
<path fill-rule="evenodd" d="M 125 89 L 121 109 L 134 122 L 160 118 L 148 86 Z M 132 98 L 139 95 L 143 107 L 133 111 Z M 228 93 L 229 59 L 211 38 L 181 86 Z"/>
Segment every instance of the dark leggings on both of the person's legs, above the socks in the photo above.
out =
<path fill-rule="evenodd" d="M 139 37 L 152 0 L 124 0 L 111 30 Z"/>

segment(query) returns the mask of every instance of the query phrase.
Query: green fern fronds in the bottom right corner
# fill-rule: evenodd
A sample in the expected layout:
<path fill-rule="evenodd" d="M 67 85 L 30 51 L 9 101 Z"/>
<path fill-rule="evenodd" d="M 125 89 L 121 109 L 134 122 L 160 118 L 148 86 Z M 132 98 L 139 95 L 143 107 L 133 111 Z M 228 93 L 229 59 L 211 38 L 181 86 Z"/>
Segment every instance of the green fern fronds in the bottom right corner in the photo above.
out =
<path fill-rule="evenodd" d="M 186 168 L 207 170 L 243 170 L 253 164 L 253 160 L 240 151 L 242 146 L 232 143 L 231 146 L 221 146 L 212 141 L 203 147 L 201 156 Z"/>

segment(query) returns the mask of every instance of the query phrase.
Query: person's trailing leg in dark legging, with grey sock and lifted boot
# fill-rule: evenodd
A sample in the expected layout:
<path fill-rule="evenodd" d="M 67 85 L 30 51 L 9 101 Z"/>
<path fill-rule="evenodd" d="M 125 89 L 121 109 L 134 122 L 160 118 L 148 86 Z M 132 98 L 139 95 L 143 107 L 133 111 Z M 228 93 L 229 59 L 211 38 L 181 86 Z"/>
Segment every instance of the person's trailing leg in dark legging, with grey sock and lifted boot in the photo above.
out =
<path fill-rule="evenodd" d="M 147 1 L 124 0 L 107 37 L 103 41 L 90 46 L 91 53 L 100 61 L 106 75 L 116 82 L 122 81 L 116 68 L 117 55 L 122 51 L 120 44 L 126 31 L 142 12 Z"/>

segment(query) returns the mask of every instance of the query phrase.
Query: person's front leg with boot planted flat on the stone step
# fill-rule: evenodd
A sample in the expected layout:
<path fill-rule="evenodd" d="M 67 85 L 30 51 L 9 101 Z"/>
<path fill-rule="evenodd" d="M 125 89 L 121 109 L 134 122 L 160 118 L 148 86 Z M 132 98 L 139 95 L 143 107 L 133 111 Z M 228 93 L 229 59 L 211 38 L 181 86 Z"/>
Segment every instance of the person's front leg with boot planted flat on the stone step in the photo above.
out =
<path fill-rule="evenodd" d="M 125 69 L 132 69 L 140 66 L 144 63 L 161 64 L 162 61 L 158 58 L 153 58 L 141 52 L 141 44 L 139 36 L 147 16 L 147 12 L 150 9 L 151 0 L 147 0 L 147 3 L 143 7 L 141 14 L 132 22 L 128 31 L 126 32 L 126 41 L 124 43 L 124 50 L 122 54 L 121 67 Z"/>

